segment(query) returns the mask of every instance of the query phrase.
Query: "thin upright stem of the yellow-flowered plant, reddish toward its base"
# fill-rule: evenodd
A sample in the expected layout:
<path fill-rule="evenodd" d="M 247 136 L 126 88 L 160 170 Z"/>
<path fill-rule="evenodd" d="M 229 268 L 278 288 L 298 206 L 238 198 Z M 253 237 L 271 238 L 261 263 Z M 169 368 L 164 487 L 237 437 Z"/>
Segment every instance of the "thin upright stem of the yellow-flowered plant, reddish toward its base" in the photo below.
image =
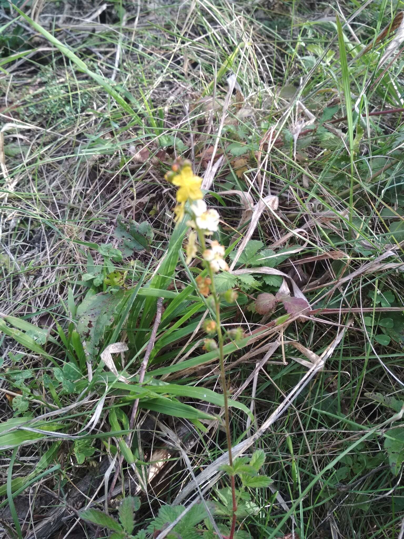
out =
<path fill-rule="evenodd" d="M 202 250 L 205 251 L 205 237 L 203 232 L 201 232 L 197 228 L 199 241 L 202 247 Z M 224 400 L 224 408 L 225 408 L 225 430 L 226 430 L 226 438 L 227 438 L 227 451 L 228 451 L 228 461 L 229 465 L 233 466 L 233 456 L 232 456 L 232 437 L 230 432 L 230 416 L 228 411 L 228 391 L 227 391 L 227 383 L 226 383 L 226 372 L 225 372 L 225 357 L 223 353 L 223 346 L 224 346 L 224 338 L 223 333 L 221 330 L 221 322 L 220 322 L 220 299 L 218 296 L 218 293 L 216 292 L 216 288 L 214 286 L 214 273 L 213 269 L 211 268 L 211 265 L 209 262 L 205 261 L 205 266 L 207 268 L 207 271 L 209 273 L 210 279 L 211 279 L 211 292 L 214 299 L 214 305 L 215 305 L 215 314 L 216 314 L 216 326 L 217 326 L 217 334 L 218 334 L 218 342 L 219 342 L 219 367 L 220 367 L 220 385 L 223 392 L 223 400 Z M 236 500 L 236 494 L 235 494 L 235 480 L 234 475 L 230 478 L 230 485 L 232 490 L 232 526 L 230 529 L 230 535 L 228 536 L 228 539 L 234 538 L 234 531 L 235 531 L 235 524 L 236 524 L 236 510 L 237 510 L 237 500 Z"/>

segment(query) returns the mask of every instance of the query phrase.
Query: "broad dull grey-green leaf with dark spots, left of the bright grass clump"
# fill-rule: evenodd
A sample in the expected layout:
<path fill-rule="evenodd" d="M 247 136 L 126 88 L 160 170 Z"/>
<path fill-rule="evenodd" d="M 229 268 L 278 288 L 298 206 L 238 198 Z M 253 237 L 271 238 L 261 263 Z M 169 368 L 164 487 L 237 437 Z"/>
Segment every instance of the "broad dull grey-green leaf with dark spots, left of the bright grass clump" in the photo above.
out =
<path fill-rule="evenodd" d="M 81 341 L 85 341 L 88 360 L 93 360 L 107 328 L 114 321 L 115 313 L 122 308 L 129 293 L 120 290 L 116 294 L 87 294 L 77 309 L 77 331 Z"/>

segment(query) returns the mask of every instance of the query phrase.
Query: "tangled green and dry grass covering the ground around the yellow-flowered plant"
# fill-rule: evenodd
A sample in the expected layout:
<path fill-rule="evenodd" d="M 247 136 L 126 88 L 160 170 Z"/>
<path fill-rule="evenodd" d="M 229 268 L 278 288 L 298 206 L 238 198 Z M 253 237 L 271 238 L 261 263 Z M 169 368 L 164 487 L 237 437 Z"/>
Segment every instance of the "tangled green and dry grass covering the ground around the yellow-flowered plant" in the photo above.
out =
<path fill-rule="evenodd" d="M 301 382 L 308 368 L 295 358 L 322 356 L 345 328 L 324 369 L 248 447 L 265 451 L 273 483 L 249 489 L 257 509 L 238 520 L 238 536 L 288 536 L 293 522 L 300 539 L 402 537 L 404 81 L 400 56 L 378 66 L 391 37 L 357 57 L 402 6 L 202 0 L 178 15 L 176 2 L 141 2 L 139 12 L 114 2 L 87 22 L 99 6 L 78 13 L 68 4 L 61 17 L 64 6 L 45 2 L 38 15 L 24 6 L 24 18 L 1 8 L 1 526 L 10 537 L 31 534 L 37 515 L 72 500 L 76 485 L 88 497 L 67 505 L 72 520 L 52 532 L 64 537 L 71 506 L 105 508 L 106 470 L 121 452 L 109 512 L 123 493 L 139 495 L 137 532 L 226 451 L 218 354 L 201 349 L 211 316 L 195 287 L 203 269 L 184 267 L 187 226 L 175 227 L 175 189 L 164 180 L 179 155 L 204 176 L 217 144 L 212 164 L 223 158 L 205 199 L 220 212 L 215 239 L 229 264 L 254 211 L 238 192 L 253 208 L 278 197 L 235 266 L 254 272 L 219 285 L 239 293 L 222 303 L 224 328 L 246 334 L 226 344 L 233 445 Z M 227 95 L 232 73 L 242 97 Z M 291 294 L 293 279 L 314 312 L 288 319 L 279 302 L 268 316 L 255 313 L 256 296 L 282 284 L 263 266 L 289 275 Z M 145 384 L 119 381 L 100 354 L 124 342 L 116 368 L 138 374 L 159 297 Z M 156 460 L 164 464 L 147 493 L 136 489 L 130 478 L 144 479 Z M 80 483 L 87 474 L 91 488 Z M 205 500 L 227 485 L 222 475 Z M 74 529 L 94 536 L 82 520 Z"/>

